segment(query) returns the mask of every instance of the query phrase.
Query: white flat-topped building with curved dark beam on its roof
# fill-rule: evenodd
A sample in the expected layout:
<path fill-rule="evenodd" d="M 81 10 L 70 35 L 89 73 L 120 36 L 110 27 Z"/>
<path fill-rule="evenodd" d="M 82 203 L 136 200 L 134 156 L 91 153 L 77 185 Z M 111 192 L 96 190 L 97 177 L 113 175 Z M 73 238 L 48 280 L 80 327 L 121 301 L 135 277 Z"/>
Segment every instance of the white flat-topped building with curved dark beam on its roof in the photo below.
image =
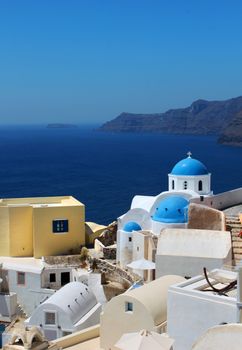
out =
<path fill-rule="evenodd" d="M 237 273 L 217 269 L 208 279 L 211 286 L 200 275 L 169 288 L 167 332 L 175 339 L 174 350 L 191 349 L 209 328 L 239 320 Z M 233 287 L 225 291 L 230 283 Z M 218 292 L 222 289 L 224 292 Z"/>

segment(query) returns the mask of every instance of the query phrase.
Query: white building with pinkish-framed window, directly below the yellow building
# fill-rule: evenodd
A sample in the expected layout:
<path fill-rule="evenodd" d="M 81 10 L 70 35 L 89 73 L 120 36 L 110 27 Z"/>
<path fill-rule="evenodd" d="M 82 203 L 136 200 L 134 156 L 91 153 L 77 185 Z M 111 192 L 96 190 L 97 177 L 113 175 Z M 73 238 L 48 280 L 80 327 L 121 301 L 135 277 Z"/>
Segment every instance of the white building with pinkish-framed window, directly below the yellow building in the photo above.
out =
<path fill-rule="evenodd" d="M 0 257 L 0 263 L 5 290 L 10 293 L 13 302 L 17 296 L 18 309 L 26 316 L 30 316 L 67 283 L 79 281 L 88 284 L 86 271 L 74 267 L 46 266 L 41 259 Z"/>

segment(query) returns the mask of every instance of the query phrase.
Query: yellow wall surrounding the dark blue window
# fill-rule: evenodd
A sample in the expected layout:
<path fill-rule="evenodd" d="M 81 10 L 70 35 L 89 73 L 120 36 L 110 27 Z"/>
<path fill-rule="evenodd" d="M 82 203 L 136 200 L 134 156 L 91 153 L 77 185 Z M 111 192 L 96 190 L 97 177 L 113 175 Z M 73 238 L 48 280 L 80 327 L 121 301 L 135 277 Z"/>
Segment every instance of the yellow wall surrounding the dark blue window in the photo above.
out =
<path fill-rule="evenodd" d="M 69 232 L 55 234 L 52 221 L 67 219 Z M 34 207 L 33 208 L 33 246 L 34 257 L 70 253 L 85 244 L 84 206 Z"/>

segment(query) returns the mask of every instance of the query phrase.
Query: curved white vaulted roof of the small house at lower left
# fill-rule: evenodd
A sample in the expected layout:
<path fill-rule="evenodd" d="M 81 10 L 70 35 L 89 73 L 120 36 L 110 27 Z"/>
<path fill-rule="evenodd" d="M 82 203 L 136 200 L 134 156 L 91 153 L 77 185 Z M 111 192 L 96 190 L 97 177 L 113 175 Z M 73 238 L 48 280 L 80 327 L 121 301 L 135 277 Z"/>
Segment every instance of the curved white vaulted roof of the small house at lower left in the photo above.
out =
<path fill-rule="evenodd" d="M 62 309 L 75 324 L 97 304 L 95 295 L 81 282 L 71 282 L 59 289 L 41 306 L 53 309 L 53 306 Z M 38 312 L 38 308 L 36 309 Z"/>

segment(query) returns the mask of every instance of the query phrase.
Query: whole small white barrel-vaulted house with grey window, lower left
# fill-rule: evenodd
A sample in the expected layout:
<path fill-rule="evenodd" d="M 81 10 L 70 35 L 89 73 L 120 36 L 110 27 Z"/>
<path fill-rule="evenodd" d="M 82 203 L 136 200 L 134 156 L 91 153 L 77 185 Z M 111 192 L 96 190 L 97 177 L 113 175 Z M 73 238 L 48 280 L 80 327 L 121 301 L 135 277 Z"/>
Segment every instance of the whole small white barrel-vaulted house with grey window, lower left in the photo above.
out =
<path fill-rule="evenodd" d="M 101 304 L 83 283 L 71 282 L 40 304 L 26 320 L 53 340 L 99 323 Z"/>

